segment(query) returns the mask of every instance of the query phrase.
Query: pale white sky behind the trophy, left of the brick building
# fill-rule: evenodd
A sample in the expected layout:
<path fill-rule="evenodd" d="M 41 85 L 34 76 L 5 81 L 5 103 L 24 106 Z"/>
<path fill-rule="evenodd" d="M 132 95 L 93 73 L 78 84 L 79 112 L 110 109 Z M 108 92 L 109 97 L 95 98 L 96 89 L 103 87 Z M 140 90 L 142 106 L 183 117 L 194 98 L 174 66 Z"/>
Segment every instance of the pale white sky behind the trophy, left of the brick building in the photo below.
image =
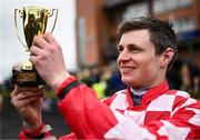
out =
<path fill-rule="evenodd" d="M 12 67 L 29 59 L 29 53 L 18 40 L 14 26 L 14 9 L 23 7 L 41 7 L 58 9 L 58 20 L 53 36 L 60 43 L 68 70 L 76 71 L 76 9 L 74 0 L 0 0 L 0 82 L 11 77 Z M 22 41 L 23 31 L 20 27 L 22 19 L 18 17 L 18 32 Z M 53 19 L 48 19 L 47 31 L 51 31 Z"/>

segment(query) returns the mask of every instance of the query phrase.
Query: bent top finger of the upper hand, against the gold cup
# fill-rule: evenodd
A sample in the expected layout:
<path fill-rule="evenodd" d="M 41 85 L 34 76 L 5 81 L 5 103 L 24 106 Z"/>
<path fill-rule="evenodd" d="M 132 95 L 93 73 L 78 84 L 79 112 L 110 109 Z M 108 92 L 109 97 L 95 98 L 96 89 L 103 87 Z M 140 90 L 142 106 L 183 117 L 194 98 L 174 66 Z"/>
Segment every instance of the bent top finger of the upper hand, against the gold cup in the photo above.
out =
<path fill-rule="evenodd" d="M 43 39 L 42 36 L 36 36 L 32 42 L 32 46 L 44 49 L 48 48 L 49 43 Z"/>

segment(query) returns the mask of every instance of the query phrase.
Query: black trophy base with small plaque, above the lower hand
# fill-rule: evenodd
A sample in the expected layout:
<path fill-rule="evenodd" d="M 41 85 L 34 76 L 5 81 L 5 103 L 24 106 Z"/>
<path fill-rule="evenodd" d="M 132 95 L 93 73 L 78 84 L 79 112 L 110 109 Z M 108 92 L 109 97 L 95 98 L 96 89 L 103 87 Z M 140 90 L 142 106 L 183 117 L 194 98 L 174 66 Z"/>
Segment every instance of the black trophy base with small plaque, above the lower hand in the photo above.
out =
<path fill-rule="evenodd" d="M 28 70 L 23 70 L 21 67 L 14 67 L 12 69 L 12 83 L 20 87 L 44 86 L 44 81 L 33 67 Z"/>

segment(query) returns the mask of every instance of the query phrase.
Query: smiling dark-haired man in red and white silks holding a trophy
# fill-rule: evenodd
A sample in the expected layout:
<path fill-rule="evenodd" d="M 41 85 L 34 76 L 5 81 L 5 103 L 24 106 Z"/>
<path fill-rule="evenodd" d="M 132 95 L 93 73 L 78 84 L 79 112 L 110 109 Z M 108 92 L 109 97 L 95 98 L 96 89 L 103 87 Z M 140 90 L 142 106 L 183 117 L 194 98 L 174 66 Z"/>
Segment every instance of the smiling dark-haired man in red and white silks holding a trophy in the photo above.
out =
<path fill-rule="evenodd" d="M 200 102 L 168 88 L 166 74 L 177 53 L 171 26 L 156 18 L 137 18 L 124 21 L 118 34 L 118 66 L 128 88 L 103 101 L 69 74 L 51 34 L 34 38 L 30 59 L 56 90 L 58 107 L 72 130 L 62 139 L 200 138 Z M 23 118 L 21 139 L 50 136 L 41 117 L 42 94 L 40 89 L 20 87 L 11 94 Z"/>

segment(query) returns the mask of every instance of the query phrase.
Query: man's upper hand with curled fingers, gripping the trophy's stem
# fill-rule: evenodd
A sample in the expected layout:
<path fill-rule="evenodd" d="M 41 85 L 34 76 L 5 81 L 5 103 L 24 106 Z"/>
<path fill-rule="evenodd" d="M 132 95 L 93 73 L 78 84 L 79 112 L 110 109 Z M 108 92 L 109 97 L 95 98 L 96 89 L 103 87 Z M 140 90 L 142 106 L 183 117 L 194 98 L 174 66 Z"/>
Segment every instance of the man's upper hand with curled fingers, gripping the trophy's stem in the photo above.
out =
<path fill-rule="evenodd" d="M 46 33 L 33 39 L 30 60 L 34 63 L 40 77 L 51 88 L 69 77 L 60 44 L 52 34 Z"/>

